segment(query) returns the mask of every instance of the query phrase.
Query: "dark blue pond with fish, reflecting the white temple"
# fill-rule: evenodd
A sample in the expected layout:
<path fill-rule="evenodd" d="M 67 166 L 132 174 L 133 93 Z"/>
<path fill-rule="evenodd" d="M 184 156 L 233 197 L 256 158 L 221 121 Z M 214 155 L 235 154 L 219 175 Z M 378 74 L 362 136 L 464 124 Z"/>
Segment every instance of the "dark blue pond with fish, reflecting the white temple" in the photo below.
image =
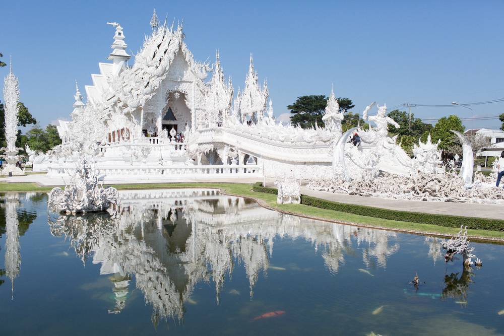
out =
<path fill-rule="evenodd" d="M 483 267 L 464 271 L 435 237 L 212 189 L 120 196 L 112 216 L 60 216 L 2 195 L 2 334 L 504 334 L 503 245 L 473 243 Z"/>

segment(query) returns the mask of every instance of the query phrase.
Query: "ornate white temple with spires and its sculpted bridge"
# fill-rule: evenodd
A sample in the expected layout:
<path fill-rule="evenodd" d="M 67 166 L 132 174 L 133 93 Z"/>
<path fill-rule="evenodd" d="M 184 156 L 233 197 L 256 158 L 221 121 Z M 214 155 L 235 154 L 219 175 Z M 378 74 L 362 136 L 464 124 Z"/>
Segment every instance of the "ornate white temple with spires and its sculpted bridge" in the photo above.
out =
<path fill-rule="evenodd" d="M 91 75 L 86 103 L 76 87 L 72 120 L 57 127 L 63 143 L 30 155 L 35 171 L 72 175 L 83 152 L 92 156 L 98 174 L 123 180 L 334 174 L 348 180 L 378 170 L 409 176 L 424 164 L 438 163 L 436 144 L 425 147 L 435 156 L 427 163 L 410 159 L 388 137 L 392 119 L 385 106 L 369 117 L 376 126 L 361 131 L 357 148 L 347 142 L 353 129 L 342 134 L 344 111 L 332 90 L 322 117 L 325 128 L 284 126 L 275 122 L 267 83 L 260 85 L 251 55 L 243 91 L 234 95 L 219 52 L 212 65 L 197 62 L 181 25 L 159 25 L 154 15 L 152 32 L 130 66 L 123 28 L 109 24 L 115 28 L 110 62 L 100 62 L 100 73 Z"/>

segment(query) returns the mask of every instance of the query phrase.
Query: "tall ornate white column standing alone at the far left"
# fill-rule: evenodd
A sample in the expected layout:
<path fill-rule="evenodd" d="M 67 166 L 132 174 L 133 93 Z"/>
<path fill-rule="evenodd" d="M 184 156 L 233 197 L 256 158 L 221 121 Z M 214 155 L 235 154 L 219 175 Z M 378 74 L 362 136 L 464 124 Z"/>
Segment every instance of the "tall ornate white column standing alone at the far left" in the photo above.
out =
<path fill-rule="evenodd" d="M 25 172 L 16 166 L 18 159 L 18 148 L 16 139 L 18 138 L 18 107 L 19 102 L 19 81 L 12 73 L 12 58 L 9 75 L 4 80 L 4 110 L 5 110 L 5 138 L 7 147 L 3 148 L 7 159 L 7 164 L 2 169 L 2 175 L 24 175 Z"/>

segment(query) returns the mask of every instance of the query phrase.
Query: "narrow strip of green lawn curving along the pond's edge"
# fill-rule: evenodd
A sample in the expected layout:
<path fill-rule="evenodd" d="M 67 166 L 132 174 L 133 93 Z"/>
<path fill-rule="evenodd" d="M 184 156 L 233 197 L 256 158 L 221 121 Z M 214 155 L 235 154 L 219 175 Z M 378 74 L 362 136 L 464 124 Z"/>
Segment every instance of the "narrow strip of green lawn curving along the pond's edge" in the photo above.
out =
<path fill-rule="evenodd" d="M 165 188 L 218 188 L 224 193 L 229 193 L 238 196 L 251 197 L 260 200 L 265 206 L 272 209 L 281 210 L 284 212 L 316 217 L 319 219 L 326 219 L 331 221 L 337 221 L 342 223 L 358 223 L 366 226 L 377 226 L 382 228 L 397 229 L 401 231 L 417 231 L 417 232 L 428 232 L 437 234 L 456 234 L 459 229 L 450 228 L 438 225 L 430 224 L 419 224 L 411 222 L 402 222 L 387 220 L 381 218 L 373 218 L 367 216 L 360 216 L 354 214 L 343 213 L 333 210 L 325 210 L 314 207 L 309 207 L 301 204 L 282 204 L 278 205 L 276 203 L 277 196 L 275 194 L 254 192 L 252 191 L 252 186 L 245 183 L 203 183 L 203 182 L 193 182 L 193 183 L 149 183 L 149 184 L 120 184 L 112 185 L 119 190 L 126 189 L 165 189 Z M 48 192 L 52 187 L 41 187 L 35 183 L 6 183 L 0 182 L 0 192 L 5 191 L 39 191 Z M 489 231 L 489 230 L 468 230 L 468 234 L 471 236 L 478 236 L 481 238 L 499 238 L 504 239 L 504 232 L 499 231 Z"/>

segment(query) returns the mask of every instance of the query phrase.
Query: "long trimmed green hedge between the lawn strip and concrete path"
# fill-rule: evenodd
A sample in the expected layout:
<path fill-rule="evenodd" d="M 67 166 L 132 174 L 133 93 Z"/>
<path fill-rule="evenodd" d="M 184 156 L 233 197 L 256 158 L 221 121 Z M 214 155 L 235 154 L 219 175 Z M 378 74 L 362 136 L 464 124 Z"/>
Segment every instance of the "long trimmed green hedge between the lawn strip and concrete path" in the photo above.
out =
<path fill-rule="evenodd" d="M 267 192 L 273 194 L 277 193 L 277 189 L 263 187 L 261 182 L 255 183 L 252 189 L 257 192 Z M 426 214 L 374 208 L 354 204 L 338 203 L 331 200 L 307 195 L 301 195 L 301 204 L 320 209 L 334 210 L 354 215 L 389 219 L 394 221 L 433 224 L 452 228 L 460 228 L 461 225 L 467 225 L 468 229 L 504 231 L 504 221 L 496 219 L 494 220 L 488 218 Z"/>

